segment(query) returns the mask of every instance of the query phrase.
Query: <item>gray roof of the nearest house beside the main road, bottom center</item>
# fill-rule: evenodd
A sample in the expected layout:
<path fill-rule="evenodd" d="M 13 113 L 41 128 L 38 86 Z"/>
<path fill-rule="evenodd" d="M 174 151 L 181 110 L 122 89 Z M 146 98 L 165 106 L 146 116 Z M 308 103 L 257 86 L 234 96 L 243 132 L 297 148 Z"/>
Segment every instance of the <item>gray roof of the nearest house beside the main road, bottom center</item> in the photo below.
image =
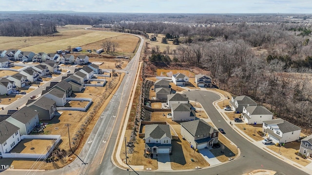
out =
<path fill-rule="evenodd" d="M 161 139 L 169 137 L 171 139 L 170 127 L 168 124 L 146 124 L 145 138 Z"/>

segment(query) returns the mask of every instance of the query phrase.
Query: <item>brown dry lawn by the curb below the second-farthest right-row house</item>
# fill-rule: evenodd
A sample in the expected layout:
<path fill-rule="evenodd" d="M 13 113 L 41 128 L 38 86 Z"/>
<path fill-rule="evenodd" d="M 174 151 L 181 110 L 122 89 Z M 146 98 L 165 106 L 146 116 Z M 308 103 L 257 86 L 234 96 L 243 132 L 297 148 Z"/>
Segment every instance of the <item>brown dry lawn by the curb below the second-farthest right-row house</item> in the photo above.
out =
<path fill-rule="evenodd" d="M 241 131 L 247 134 L 249 137 L 255 141 L 263 140 L 263 138 L 257 133 L 257 131 L 262 131 L 262 124 L 235 124 Z M 244 129 L 245 128 L 245 129 Z"/>

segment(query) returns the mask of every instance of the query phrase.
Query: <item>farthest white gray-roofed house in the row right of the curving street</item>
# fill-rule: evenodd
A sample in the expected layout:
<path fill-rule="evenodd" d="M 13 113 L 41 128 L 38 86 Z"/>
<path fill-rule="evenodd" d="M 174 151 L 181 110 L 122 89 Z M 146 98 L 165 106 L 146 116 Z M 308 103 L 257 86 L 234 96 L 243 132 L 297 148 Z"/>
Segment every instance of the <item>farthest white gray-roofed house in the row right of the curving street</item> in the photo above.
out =
<path fill-rule="evenodd" d="M 232 110 L 242 112 L 243 107 L 247 106 L 255 106 L 257 103 L 254 102 L 254 100 L 246 95 L 237 96 L 235 98 L 232 97 L 230 104 L 232 107 Z"/>

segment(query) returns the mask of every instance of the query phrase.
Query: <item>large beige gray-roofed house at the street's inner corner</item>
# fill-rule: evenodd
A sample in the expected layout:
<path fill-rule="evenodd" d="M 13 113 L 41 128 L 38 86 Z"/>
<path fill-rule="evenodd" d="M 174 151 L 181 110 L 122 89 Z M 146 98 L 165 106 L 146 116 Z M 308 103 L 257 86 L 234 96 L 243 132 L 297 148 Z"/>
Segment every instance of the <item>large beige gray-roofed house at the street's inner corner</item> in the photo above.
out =
<path fill-rule="evenodd" d="M 182 137 L 195 149 L 203 149 L 218 142 L 218 130 L 202 119 L 180 124 Z"/>

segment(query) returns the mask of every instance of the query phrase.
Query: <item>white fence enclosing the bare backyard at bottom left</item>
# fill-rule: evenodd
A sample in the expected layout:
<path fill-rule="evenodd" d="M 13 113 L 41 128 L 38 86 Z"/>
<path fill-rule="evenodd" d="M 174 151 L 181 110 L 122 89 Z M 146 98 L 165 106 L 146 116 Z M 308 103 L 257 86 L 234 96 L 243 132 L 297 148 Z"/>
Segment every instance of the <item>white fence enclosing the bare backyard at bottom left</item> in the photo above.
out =
<path fill-rule="evenodd" d="M 23 139 L 53 139 L 55 140 L 50 149 L 45 154 L 26 154 L 26 153 L 2 153 L 3 158 L 47 158 L 61 139 L 60 135 L 22 135 Z"/>

